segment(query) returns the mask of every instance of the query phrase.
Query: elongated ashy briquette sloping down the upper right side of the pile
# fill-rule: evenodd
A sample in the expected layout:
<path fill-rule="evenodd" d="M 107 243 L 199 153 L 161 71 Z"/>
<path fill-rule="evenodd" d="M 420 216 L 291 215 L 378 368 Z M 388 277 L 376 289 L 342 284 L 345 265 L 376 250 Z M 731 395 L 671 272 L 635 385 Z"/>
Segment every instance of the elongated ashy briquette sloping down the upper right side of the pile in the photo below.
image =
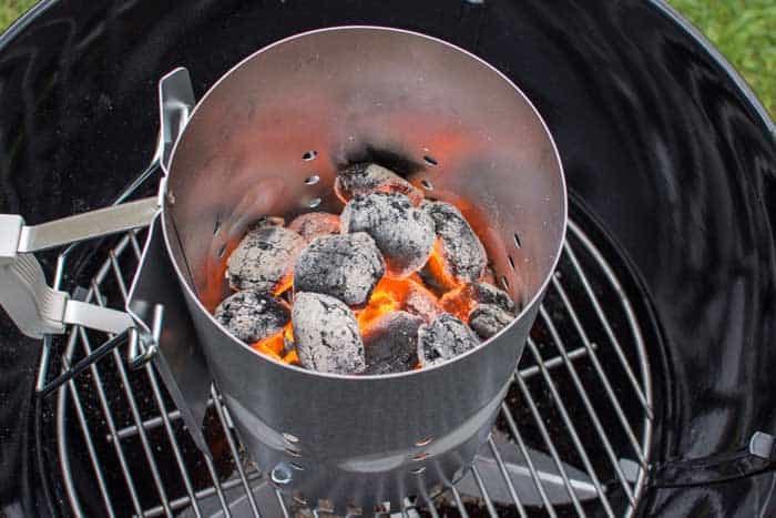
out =
<path fill-rule="evenodd" d="M 478 281 L 488 265 L 488 255 L 469 222 L 449 203 L 425 201 L 421 209 L 433 219 L 439 236 L 441 274 L 459 284 Z"/>

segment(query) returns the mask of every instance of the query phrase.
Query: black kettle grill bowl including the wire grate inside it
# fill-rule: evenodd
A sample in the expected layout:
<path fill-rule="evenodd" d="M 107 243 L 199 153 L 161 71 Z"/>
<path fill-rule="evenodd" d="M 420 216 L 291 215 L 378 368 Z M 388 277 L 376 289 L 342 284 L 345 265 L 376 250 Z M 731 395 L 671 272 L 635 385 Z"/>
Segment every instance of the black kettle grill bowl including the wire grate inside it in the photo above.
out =
<path fill-rule="evenodd" d="M 200 97 L 270 42 L 345 24 L 422 32 L 502 71 L 545 119 L 570 194 L 479 460 L 441 495 L 350 514 L 776 514 L 775 129 L 662 1 L 43 1 L 0 37 L 0 213 L 37 224 L 153 194 L 162 77 L 186 67 Z M 122 307 L 144 238 L 39 258 L 74 299 Z M 203 455 L 124 344 L 0 324 L 0 516 L 331 510 L 248 460 L 216 387 Z"/>

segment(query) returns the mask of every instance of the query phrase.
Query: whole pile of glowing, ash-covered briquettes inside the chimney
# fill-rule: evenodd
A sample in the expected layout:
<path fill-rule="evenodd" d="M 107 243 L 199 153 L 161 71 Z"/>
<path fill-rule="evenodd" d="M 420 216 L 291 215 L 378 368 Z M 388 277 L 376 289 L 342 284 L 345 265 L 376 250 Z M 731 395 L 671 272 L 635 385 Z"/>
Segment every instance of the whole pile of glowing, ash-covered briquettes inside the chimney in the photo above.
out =
<path fill-rule="evenodd" d="M 235 291 L 215 311 L 279 362 L 335 374 L 431 367 L 509 325 L 477 233 L 453 205 L 382 166 L 338 173 L 340 215 L 263 217 L 227 260 Z"/>

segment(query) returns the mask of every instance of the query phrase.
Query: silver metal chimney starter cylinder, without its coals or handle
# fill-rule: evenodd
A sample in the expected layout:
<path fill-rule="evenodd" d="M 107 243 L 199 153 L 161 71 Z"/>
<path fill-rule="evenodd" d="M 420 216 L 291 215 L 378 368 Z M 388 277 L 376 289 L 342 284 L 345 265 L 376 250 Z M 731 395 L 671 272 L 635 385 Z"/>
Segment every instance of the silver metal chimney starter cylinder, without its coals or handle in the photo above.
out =
<path fill-rule="evenodd" d="M 451 362 L 387 376 L 288 366 L 226 333 L 211 314 L 228 293 L 224 252 L 259 216 L 340 212 L 336 171 L 369 153 L 404 158 L 408 181 L 461 209 L 520 303 L 515 321 Z M 306 181 L 313 175 L 318 182 Z M 472 463 L 565 232 L 557 149 L 509 79 L 402 30 L 333 28 L 279 41 L 197 104 L 173 151 L 164 203 L 167 250 L 210 373 L 246 450 L 282 473 L 284 494 L 343 512 L 396 508 L 407 491 L 431 490 Z"/>

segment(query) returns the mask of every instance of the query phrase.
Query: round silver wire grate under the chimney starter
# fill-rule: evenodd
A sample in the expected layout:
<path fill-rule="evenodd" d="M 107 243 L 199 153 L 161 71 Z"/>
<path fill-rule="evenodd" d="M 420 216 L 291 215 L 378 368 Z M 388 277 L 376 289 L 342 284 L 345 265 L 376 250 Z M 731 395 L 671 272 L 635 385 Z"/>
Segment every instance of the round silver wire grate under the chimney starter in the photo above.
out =
<path fill-rule="evenodd" d="M 99 267 L 74 296 L 123 308 L 142 237 L 142 231 L 131 232 L 92 248 L 92 257 L 106 258 L 88 262 Z M 84 276 L 68 256 L 72 252 L 60 256 L 55 285 Z M 106 339 L 69 329 L 61 344 L 44 344 L 41 365 L 48 365 L 50 351 L 62 351 L 64 367 L 73 365 Z M 643 335 L 623 287 L 599 248 L 570 223 L 559 270 L 486 445 L 499 476 L 474 468 L 464 477 L 466 495 L 466 481 L 436 498 L 419 495 L 407 500 L 401 516 L 633 515 L 650 459 L 649 373 Z M 205 431 L 212 459 L 195 448 L 153 367 L 131 369 L 113 348 L 59 390 L 57 444 L 72 511 L 149 517 L 296 512 L 298 502 L 286 501 L 247 460 L 215 388 Z M 497 446 L 494 437 L 508 443 Z M 522 459 L 522 480 L 506 476 L 503 448 Z M 547 455 L 539 458 L 534 451 Z M 508 495 L 507 501 L 496 494 Z"/>

